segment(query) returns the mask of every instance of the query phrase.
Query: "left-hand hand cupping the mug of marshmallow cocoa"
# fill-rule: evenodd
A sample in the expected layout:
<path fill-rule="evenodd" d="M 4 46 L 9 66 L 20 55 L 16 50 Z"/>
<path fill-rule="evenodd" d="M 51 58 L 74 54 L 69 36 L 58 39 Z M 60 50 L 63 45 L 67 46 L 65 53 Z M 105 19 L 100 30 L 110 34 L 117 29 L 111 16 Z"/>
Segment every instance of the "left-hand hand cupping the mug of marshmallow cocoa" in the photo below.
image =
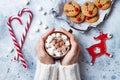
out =
<path fill-rule="evenodd" d="M 54 31 L 55 31 L 55 28 L 52 28 L 49 31 L 47 31 L 44 35 L 42 35 L 42 37 L 36 44 L 35 50 L 36 50 L 38 59 L 43 64 L 54 64 L 55 63 L 54 59 L 51 56 L 49 56 L 44 49 L 45 39 L 47 38 L 49 34 L 51 34 Z"/>

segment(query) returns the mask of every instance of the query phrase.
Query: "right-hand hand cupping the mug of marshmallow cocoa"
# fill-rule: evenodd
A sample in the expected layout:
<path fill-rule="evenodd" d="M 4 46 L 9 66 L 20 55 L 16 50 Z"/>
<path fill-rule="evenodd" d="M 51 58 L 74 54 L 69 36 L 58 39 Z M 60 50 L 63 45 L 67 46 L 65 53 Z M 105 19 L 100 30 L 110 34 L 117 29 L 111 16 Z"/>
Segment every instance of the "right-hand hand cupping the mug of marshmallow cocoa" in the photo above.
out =
<path fill-rule="evenodd" d="M 79 56 L 80 45 L 70 32 L 66 31 L 64 28 L 61 28 L 60 31 L 65 33 L 70 38 L 70 42 L 71 42 L 71 49 L 61 60 L 61 65 L 74 64 L 77 62 Z"/>

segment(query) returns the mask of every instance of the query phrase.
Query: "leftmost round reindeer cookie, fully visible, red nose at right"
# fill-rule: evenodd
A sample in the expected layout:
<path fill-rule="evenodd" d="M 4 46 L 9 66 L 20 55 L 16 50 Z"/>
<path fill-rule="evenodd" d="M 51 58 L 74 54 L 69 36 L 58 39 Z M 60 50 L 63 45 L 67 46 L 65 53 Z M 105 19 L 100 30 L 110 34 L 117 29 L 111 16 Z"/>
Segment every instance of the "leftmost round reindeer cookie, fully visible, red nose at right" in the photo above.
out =
<path fill-rule="evenodd" d="M 80 6 L 78 3 L 74 2 L 74 1 L 67 2 L 64 5 L 63 11 L 67 16 L 73 17 L 73 16 L 76 16 L 79 14 Z"/>

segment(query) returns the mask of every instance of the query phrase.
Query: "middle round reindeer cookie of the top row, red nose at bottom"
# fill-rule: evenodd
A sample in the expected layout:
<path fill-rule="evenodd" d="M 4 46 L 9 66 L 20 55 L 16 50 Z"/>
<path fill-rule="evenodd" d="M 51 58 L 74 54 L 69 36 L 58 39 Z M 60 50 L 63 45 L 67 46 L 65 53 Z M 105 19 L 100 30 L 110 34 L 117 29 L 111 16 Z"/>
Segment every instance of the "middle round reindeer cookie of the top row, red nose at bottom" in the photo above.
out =
<path fill-rule="evenodd" d="M 82 13 L 88 17 L 93 17 L 98 13 L 98 9 L 96 5 L 90 1 L 83 3 L 81 9 L 82 9 Z"/>

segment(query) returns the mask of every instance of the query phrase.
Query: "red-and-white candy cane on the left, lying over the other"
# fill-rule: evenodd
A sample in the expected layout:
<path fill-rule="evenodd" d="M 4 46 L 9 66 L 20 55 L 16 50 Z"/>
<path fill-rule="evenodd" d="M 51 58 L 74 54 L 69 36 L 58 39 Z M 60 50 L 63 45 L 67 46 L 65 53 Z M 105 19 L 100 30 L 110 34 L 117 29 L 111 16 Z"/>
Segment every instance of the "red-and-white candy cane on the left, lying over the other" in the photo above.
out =
<path fill-rule="evenodd" d="M 17 39 L 16 39 L 16 37 L 15 37 L 15 34 L 14 34 L 13 29 L 12 29 L 12 26 L 11 26 L 11 21 L 12 21 L 12 20 L 17 20 L 17 21 L 19 21 L 20 24 L 22 24 L 22 22 L 21 22 L 21 19 L 20 19 L 18 16 L 11 16 L 11 17 L 8 18 L 7 26 L 8 26 L 8 29 L 9 29 L 9 32 L 10 32 L 10 35 L 11 35 L 11 38 L 12 38 L 12 40 L 13 40 L 13 43 L 14 43 L 14 45 L 15 45 L 17 54 L 18 54 L 18 56 L 20 57 L 20 61 L 22 62 L 23 67 L 26 68 L 26 67 L 27 67 L 26 61 L 25 61 L 25 59 L 24 59 L 24 57 L 23 57 L 23 55 L 22 55 L 21 47 L 20 47 L 20 45 L 19 45 L 18 42 L 17 42 Z"/>

